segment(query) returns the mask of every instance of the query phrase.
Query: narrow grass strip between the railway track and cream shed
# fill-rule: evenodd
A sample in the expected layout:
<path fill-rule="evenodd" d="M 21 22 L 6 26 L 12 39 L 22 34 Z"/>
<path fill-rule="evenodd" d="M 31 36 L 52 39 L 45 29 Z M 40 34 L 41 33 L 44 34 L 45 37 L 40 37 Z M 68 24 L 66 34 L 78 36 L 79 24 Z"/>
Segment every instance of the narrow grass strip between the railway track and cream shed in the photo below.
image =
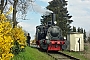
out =
<path fill-rule="evenodd" d="M 70 56 L 79 58 L 80 60 L 88 60 L 83 56 L 83 52 L 69 52 L 69 51 L 63 51 L 63 53 L 68 54 Z"/>

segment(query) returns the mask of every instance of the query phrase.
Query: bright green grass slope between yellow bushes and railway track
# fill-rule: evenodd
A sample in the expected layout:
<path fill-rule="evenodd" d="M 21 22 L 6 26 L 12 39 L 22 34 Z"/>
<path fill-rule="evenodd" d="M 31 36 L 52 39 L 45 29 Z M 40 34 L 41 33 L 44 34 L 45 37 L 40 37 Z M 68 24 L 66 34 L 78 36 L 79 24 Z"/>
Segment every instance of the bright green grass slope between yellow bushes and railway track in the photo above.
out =
<path fill-rule="evenodd" d="M 25 52 L 14 56 L 11 60 L 53 60 L 46 53 L 40 52 L 38 49 L 26 47 Z"/>

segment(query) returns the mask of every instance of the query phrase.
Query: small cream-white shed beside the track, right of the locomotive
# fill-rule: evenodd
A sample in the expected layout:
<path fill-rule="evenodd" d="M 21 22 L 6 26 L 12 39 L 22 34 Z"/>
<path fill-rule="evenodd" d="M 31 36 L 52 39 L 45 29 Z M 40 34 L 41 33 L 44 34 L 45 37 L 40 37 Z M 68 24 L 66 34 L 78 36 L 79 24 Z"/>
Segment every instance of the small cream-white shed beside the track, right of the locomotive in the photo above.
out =
<path fill-rule="evenodd" d="M 67 50 L 84 51 L 83 33 L 70 32 L 67 34 Z"/>

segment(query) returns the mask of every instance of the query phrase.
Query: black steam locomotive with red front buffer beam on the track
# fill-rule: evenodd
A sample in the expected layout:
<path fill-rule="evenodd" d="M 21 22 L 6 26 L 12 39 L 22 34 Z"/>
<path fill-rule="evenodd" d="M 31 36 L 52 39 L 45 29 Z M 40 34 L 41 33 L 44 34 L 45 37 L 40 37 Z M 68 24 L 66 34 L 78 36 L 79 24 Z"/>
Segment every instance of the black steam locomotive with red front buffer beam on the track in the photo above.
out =
<path fill-rule="evenodd" d="M 36 44 L 40 49 L 47 51 L 59 51 L 66 49 L 62 30 L 54 24 L 55 15 L 52 13 L 52 21 L 46 25 L 36 26 Z"/>

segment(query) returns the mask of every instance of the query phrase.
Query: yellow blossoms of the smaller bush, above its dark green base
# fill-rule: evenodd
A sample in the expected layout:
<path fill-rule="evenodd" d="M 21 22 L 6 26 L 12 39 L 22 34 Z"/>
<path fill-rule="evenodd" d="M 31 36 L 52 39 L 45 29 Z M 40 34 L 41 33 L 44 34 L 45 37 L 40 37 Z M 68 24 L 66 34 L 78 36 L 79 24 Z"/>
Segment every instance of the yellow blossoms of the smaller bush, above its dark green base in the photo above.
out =
<path fill-rule="evenodd" d="M 21 48 L 26 46 L 26 36 L 24 35 L 24 31 L 21 27 L 15 27 L 12 29 L 13 39 L 17 41 Z"/>

